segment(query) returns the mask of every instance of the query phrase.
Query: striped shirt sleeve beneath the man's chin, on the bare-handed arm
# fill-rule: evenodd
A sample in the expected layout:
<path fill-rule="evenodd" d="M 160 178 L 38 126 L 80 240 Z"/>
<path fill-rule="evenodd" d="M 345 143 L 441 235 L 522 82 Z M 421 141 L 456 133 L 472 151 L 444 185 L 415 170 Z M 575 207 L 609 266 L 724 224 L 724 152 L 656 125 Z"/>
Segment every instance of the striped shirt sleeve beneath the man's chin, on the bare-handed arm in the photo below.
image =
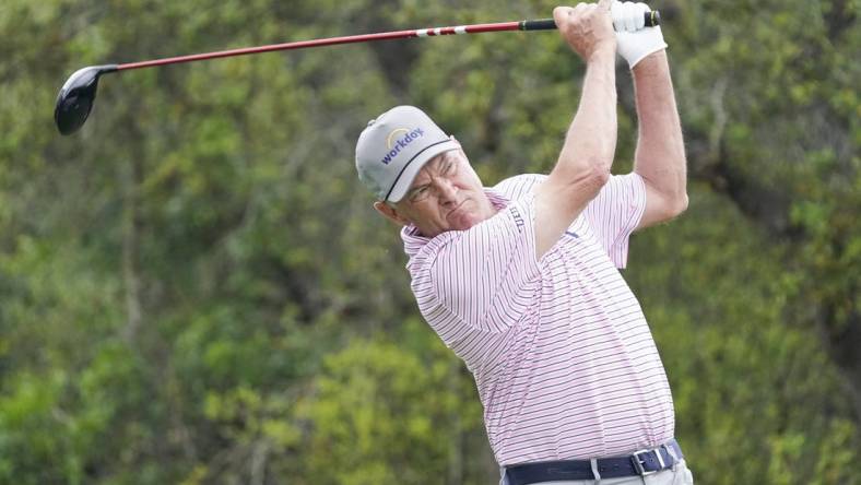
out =
<path fill-rule="evenodd" d="M 450 347 L 476 331 L 504 332 L 530 308 L 539 276 L 533 199 L 524 197 L 468 230 L 428 244 L 440 239 L 413 291 L 418 297 L 417 286 L 428 289 L 420 308 Z"/>

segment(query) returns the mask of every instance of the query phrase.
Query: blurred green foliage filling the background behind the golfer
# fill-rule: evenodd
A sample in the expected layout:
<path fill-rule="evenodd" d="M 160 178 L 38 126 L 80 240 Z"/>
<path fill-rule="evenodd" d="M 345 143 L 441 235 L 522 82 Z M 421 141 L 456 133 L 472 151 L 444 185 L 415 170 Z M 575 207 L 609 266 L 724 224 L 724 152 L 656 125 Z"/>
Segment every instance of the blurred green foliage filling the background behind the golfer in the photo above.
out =
<path fill-rule="evenodd" d="M 660 0 L 691 208 L 625 277 L 701 484 L 861 484 L 861 1 Z M 546 1 L 0 5 L 0 483 L 486 484 L 462 364 L 353 168 L 422 106 L 487 185 L 546 171 L 582 63 L 553 33 L 89 64 L 550 16 Z M 636 117 L 620 64 L 616 171 Z"/>

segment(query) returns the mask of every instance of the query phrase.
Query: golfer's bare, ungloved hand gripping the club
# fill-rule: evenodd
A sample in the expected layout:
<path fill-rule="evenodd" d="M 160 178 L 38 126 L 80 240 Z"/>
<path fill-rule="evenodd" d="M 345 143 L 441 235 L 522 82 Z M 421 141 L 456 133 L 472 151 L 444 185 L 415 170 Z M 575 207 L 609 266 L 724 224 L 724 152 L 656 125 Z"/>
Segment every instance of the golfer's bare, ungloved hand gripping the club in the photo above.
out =
<path fill-rule="evenodd" d="M 616 36 L 610 16 L 611 0 L 598 3 L 578 3 L 577 7 L 553 9 L 553 19 L 559 33 L 585 61 L 599 52 L 615 55 Z"/>

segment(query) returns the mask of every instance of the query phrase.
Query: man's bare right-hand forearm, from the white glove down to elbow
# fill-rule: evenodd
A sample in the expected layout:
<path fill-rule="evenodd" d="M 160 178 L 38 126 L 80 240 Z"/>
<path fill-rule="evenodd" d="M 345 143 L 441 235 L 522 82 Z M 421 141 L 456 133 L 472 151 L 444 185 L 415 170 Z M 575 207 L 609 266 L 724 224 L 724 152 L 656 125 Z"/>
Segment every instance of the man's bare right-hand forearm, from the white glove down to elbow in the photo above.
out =
<path fill-rule="evenodd" d="M 633 70 L 639 138 L 634 170 L 664 202 L 669 216 L 687 206 L 685 147 L 667 52 L 654 52 Z"/>

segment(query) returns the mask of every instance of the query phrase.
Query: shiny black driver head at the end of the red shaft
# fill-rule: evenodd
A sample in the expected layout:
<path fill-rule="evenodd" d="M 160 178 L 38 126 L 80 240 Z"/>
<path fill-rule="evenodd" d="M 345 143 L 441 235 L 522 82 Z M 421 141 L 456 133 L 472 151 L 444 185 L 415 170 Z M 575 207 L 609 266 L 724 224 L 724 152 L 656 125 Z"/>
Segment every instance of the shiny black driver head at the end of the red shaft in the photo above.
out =
<path fill-rule="evenodd" d="M 54 120 L 62 134 L 78 131 L 90 116 L 96 99 L 98 76 L 117 70 L 117 64 L 90 66 L 74 71 L 57 95 Z"/>

